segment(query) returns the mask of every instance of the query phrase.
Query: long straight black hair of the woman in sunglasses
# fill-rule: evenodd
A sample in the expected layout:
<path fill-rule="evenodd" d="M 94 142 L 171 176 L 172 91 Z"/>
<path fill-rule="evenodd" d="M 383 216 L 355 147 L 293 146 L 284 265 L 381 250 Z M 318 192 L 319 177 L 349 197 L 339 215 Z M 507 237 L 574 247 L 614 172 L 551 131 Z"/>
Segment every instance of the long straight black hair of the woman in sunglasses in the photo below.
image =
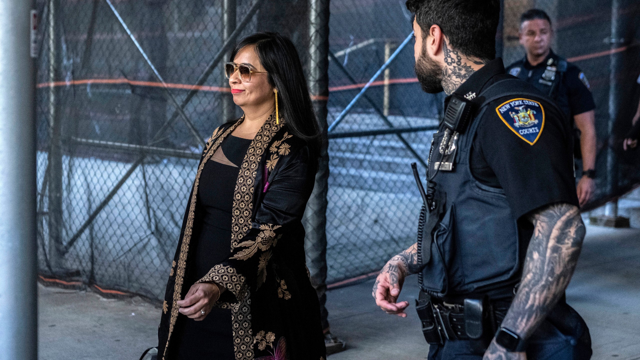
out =
<path fill-rule="evenodd" d="M 319 156 L 321 128 L 293 42 L 279 33 L 255 33 L 240 40 L 229 61 L 234 61 L 238 51 L 247 45 L 255 45 L 255 53 L 269 73 L 269 84 L 278 89 L 278 107 L 290 133 L 307 142 L 312 156 Z"/>

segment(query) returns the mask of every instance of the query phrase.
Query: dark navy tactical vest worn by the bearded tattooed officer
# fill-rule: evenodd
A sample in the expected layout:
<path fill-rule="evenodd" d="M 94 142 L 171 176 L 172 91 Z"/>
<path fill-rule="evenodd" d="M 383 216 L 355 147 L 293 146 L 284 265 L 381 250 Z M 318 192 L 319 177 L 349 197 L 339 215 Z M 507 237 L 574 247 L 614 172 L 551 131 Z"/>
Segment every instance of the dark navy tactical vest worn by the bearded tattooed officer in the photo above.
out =
<path fill-rule="evenodd" d="M 433 136 L 428 170 L 428 179 L 433 177 L 430 185 L 433 204 L 429 206 L 426 224 L 420 225 L 418 239 L 423 266 L 419 273 L 420 287 L 433 297 L 483 294 L 496 289 L 511 291 L 520 281 L 523 264 L 518 225 L 504 190 L 479 183 L 469 166 L 479 119 L 484 111 L 493 111 L 488 108 L 490 102 L 509 95 L 545 97 L 518 79 L 498 81 L 487 88 L 476 99 L 480 104 L 477 115 L 454 143 L 457 149 L 453 149 L 451 171 L 440 167 L 436 172 L 441 152 L 451 149 L 442 149 L 444 131 Z"/>

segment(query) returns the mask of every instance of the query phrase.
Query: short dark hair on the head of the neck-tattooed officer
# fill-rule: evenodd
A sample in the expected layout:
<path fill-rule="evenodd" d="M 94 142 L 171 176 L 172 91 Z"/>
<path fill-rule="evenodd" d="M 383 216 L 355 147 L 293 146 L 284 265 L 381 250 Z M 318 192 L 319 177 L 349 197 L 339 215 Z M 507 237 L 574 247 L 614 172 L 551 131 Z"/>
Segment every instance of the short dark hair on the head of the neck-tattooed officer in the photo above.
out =
<path fill-rule="evenodd" d="M 435 24 L 460 53 L 486 61 L 495 58 L 499 0 L 407 0 L 406 8 L 415 13 L 423 34 Z"/>

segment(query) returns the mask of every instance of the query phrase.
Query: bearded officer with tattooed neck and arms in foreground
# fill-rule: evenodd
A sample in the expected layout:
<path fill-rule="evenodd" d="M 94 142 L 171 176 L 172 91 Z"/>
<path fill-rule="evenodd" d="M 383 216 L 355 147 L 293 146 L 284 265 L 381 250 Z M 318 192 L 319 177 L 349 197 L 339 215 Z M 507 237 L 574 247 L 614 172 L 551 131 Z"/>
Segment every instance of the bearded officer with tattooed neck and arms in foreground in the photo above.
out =
<path fill-rule="evenodd" d="M 420 85 L 447 97 L 426 192 L 414 174 L 418 241 L 383 267 L 376 304 L 405 317 L 398 296 L 418 274 L 430 360 L 589 359 L 588 328 L 564 298 L 585 233 L 569 122 L 495 58 L 499 0 L 406 6 Z"/>

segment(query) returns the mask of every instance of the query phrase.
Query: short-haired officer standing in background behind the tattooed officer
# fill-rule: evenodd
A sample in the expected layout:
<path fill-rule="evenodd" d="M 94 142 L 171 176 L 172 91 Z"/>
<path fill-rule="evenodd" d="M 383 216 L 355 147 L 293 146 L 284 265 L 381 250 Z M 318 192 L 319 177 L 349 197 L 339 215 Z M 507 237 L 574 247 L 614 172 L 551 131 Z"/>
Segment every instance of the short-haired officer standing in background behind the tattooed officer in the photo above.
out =
<path fill-rule="evenodd" d="M 595 102 L 584 72 L 557 56 L 550 47 L 553 37 L 547 13 L 531 9 L 520 16 L 520 44 L 527 55 L 507 68 L 509 74 L 536 86 L 554 99 L 575 127 L 574 155 L 582 158 L 582 176 L 577 192 L 580 206 L 595 190 L 596 131 Z"/>

